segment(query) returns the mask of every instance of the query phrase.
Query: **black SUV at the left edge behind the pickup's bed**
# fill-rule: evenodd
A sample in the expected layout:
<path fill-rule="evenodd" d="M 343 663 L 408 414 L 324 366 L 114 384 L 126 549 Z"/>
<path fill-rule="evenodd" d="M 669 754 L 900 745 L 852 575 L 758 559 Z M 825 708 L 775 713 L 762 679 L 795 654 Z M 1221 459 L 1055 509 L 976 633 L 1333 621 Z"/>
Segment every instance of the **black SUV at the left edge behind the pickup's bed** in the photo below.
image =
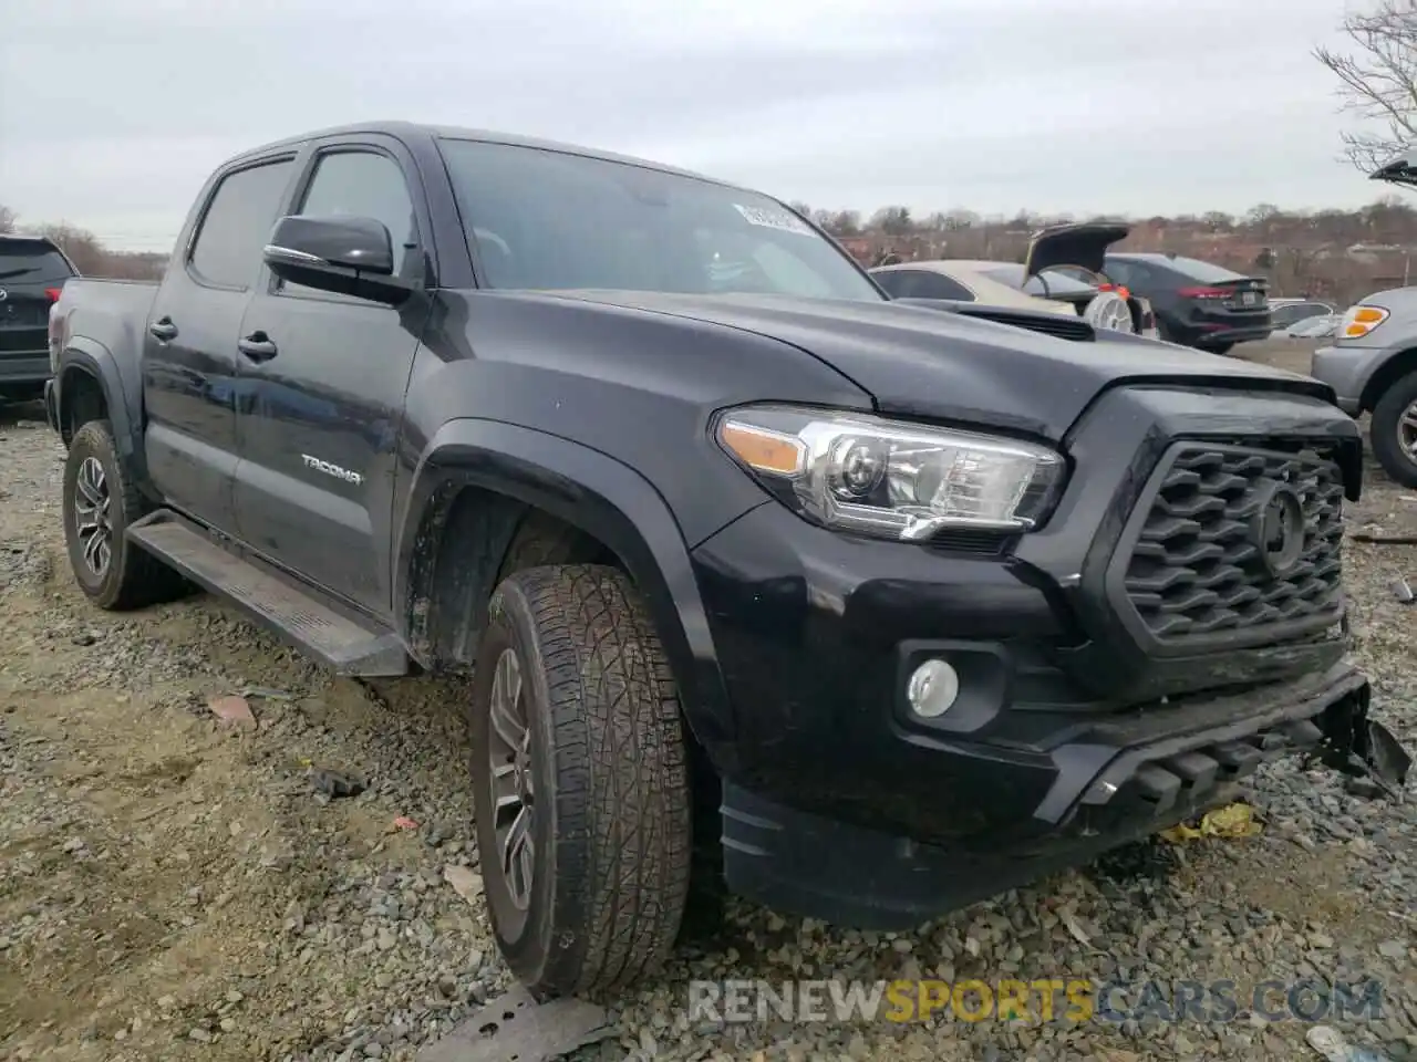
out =
<path fill-rule="evenodd" d="M 50 307 L 74 263 L 43 236 L 0 235 L 0 398 L 38 398 L 50 378 Z"/>

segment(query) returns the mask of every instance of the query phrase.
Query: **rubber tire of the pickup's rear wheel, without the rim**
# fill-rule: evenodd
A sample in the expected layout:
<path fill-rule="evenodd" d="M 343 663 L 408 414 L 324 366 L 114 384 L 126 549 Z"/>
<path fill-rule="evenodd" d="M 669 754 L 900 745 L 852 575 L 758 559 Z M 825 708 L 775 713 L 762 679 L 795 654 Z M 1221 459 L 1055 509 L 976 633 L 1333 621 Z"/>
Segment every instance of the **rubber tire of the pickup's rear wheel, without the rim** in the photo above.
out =
<path fill-rule="evenodd" d="M 74 500 L 78 490 L 79 467 L 89 457 L 103 469 L 109 497 L 111 559 L 102 576 L 96 576 L 84 562 L 84 547 L 75 524 Z M 64 462 L 64 541 L 68 547 L 69 568 L 79 589 L 101 609 L 122 612 L 145 605 L 173 600 L 191 592 L 181 575 L 152 554 L 128 541 L 129 524 L 152 511 L 152 506 L 133 486 L 128 470 L 118 459 L 113 429 L 108 421 L 89 421 L 69 440 Z"/>

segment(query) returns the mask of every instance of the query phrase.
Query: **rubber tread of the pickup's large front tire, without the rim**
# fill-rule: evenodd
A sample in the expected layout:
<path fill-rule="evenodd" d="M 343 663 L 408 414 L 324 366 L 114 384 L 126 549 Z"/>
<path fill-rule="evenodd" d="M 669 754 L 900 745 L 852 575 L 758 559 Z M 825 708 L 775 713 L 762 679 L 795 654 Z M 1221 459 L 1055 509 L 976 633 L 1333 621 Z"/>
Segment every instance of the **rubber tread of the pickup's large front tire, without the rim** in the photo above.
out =
<path fill-rule="evenodd" d="M 490 765 L 495 671 L 509 647 L 536 793 L 524 913 L 502 869 Z M 629 579 L 558 565 L 503 581 L 478 647 L 470 714 L 482 877 L 507 966 L 538 1000 L 622 990 L 673 949 L 693 843 L 679 695 Z"/>

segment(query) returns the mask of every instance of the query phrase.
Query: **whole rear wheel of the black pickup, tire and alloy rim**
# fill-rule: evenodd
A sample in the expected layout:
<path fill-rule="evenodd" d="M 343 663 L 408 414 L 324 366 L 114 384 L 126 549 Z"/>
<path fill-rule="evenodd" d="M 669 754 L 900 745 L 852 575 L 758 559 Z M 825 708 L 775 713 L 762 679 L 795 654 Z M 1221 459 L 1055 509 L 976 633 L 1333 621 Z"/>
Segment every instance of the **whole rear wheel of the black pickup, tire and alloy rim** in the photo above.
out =
<path fill-rule="evenodd" d="M 129 524 L 150 506 L 128 479 L 108 421 L 74 433 L 64 463 L 64 541 L 79 589 L 113 612 L 171 600 L 190 583 L 128 541 Z"/>

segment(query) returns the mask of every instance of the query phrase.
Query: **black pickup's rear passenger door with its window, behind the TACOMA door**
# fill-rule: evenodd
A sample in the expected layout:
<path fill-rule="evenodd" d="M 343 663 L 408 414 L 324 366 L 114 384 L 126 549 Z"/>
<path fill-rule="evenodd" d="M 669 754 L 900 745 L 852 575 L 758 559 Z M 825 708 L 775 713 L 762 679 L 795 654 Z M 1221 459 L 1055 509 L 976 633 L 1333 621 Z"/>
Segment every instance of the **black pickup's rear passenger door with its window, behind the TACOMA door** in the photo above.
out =
<path fill-rule="evenodd" d="M 235 375 L 261 248 L 295 174 L 293 153 L 208 181 L 153 300 L 143 336 L 147 467 L 174 508 L 235 534 Z"/>

